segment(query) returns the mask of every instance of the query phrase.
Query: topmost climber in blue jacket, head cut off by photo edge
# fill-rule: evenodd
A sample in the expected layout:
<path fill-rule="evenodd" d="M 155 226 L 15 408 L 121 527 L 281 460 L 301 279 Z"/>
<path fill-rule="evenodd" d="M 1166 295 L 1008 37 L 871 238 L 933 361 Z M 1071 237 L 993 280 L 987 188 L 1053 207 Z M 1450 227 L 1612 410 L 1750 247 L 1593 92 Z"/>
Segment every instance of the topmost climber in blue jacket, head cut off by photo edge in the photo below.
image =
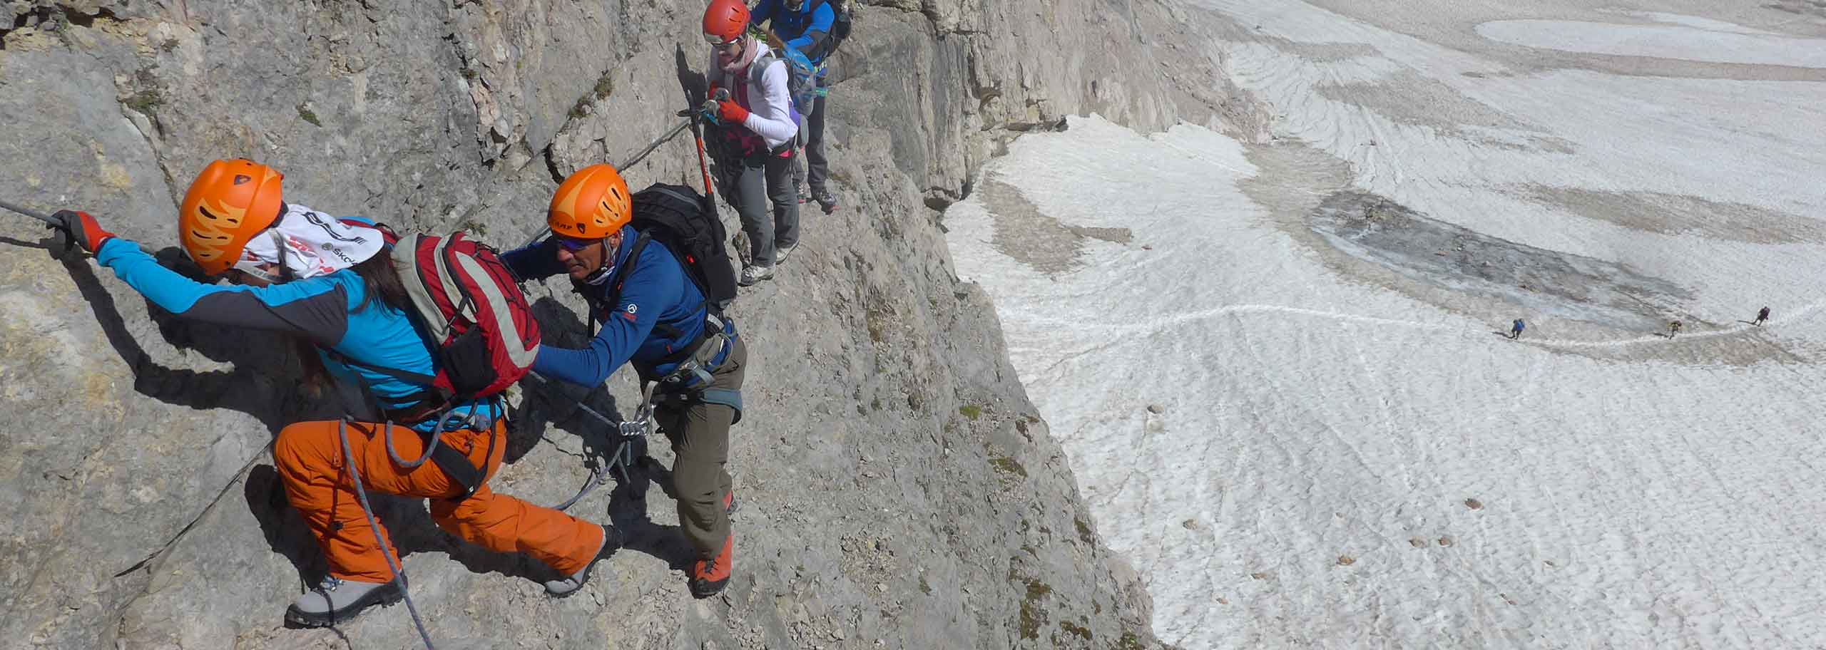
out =
<path fill-rule="evenodd" d="M 772 20 L 772 33 L 785 44 L 789 66 L 803 68 L 809 66 L 816 69 L 825 64 L 831 55 L 831 24 L 836 22 L 836 9 L 831 7 L 827 0 L 761 0 L 749 13 L 749 24 L 756 29 L 763 22 Z M 803 57 L 803 62 L 794 62 L 794 55 Z M 809 73 L 807 69 L 796 69 L 794 80 Z M 825 73 L 820 71 L 807 79 L 807 84 L 822 89 L 825 86 Z M 792 88 L 792 97 L 805 97 L 814 93 L 811 88 Z M 800 186 L 811 184 L 811 197 L 818 201 L 818 206 L 825 214 L 836 210 L 836 195 L 825 186 L 831 177 L 831 164 L 824 157 L 824 93 L 816 93 L 809 106 L 796 106 L 800 115 L 805 117 L 805 128 L 800 130 L 802 142 L 805 142 L 805 166 L 794 166 L 792 177 Z M 809 179 L 807 179 L 809 166 Z"/>

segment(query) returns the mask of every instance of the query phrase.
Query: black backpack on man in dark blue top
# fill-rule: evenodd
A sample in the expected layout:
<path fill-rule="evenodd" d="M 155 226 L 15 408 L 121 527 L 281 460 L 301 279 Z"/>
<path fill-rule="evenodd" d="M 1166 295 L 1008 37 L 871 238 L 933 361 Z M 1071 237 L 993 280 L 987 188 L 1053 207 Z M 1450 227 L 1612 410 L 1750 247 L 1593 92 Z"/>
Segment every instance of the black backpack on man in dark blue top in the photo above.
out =
<path fill-rule="evenodd" d="M 657 239 L 685 265 L 685 276 L 703 292 L 712 314 L 721 314 L 736 299 L 736 267 L 729 263 L 729 234 L 723 221 L 707 210 L 708 201 L 685 184 L 654 183 L 634 194 L 634 248 L 615 276 L 634 268 L 641 248 Z M 621 278 L 610 279 L 619 292 Z M 614 307 L 614 305 L 610 305 Z"/>

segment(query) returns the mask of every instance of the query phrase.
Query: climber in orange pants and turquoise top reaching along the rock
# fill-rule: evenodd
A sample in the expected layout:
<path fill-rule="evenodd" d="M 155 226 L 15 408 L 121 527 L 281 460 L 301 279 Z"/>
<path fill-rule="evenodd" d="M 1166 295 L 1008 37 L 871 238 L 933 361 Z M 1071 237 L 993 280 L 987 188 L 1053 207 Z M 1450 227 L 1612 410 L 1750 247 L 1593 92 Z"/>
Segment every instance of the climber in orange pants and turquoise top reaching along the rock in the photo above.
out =
<path fill-rule="evenodd" d="M 177 215 L 177 236 L 190 259 L 232 285 L 205 285 L 164 268 L 131 241 L 102 230 L 84 212 L 57 214 L 62 230 L 95 254 L 95 261 L 152 303 L 177 318 L 283 334 L 298 343 L 305 385 L 354 382 L 394 427 L 338 420 L 296 422 L 272 444 L 272 464 L 285 497 L 316 537 L 329 575 L 299 595 L 285 619 L 327 626 L 404 593 L 391 559 L 369 526 L 351 482 L 343 440 L 365 491 L 431 498 L 431 520 L 446 531 L 497 553 L 526 553 L 566 575 L 546 582 L 564 595 L 588 575 L 608 529 L 577 517 L 489 491 L 486 480 L 508 451 L 500 396 L 458 402 L 400 372 L 435 372 L 429 336 L 411 318 L 407 290 L 382 232 L 365 219 L 336 219 L 281 201 L 281 175 L 252 161 L 210 162 Z M 449 422 L 455 418 L 456 422 Z M 449 422 L 449 424 L 446 424 Z M 343 436 L 347 433 L 347 438 Z M 402 467 L 393 455 L 422 458 L 436 435 L 440 449 L 456 449 L 482 484 L 466 495 L 462 477 L 433 462 Z M 391 438 L 391 449 L 387 446 Z M 449 456 L 447 456 L 449 458 Z M 438 460 L 438 458 L 433 458 Z M 391 542 L 389 542 L 391 546 Z M 566 582 L 568 581 L 568 582 Z M 199 584 L 206 588 L 206 584 Z"/>

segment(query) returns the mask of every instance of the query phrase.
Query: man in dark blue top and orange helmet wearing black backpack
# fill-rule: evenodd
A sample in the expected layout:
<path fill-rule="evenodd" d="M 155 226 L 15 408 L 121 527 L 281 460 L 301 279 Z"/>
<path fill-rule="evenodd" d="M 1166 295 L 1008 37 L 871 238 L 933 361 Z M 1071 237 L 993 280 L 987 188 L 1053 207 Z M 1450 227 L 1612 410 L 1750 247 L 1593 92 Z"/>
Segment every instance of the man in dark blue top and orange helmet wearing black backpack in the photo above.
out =
<path fill-rule="evenodd" d="M 572 173 L 551 197 L 551 237 L 511 250 L 500 261 L 520 279 L 570 276 L 601 329 L 586 349 L 540 345 L 533 371 L 595 387 L 623 363 L 641 382 L 657 382 L 654 420 L 672 440 L 672 486 L 679 529 L 698 551 L 690 590 L 708 597 L 729 582 L 736 497 L 729 471 L 729 427 L 741 418 L 747 347 L 734 323 L 712 314 L 703 290 L 659 241 L 628 223 L 626 181 L 608 164 Z M 639 250 L 635 250 L 639 248 Z"/>

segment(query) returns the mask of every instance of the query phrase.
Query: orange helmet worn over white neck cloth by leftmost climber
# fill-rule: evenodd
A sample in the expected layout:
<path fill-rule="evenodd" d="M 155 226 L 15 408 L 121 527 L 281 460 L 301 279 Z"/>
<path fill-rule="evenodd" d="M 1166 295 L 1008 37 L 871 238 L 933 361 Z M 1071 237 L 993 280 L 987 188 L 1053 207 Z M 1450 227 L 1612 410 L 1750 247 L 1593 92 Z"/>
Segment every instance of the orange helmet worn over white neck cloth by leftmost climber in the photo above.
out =
<path fill-rule="evenodd" d="M 177 212 L 177 239 L 190 259 L 210 276 L 234 267 L 248 239 L 279 219 L 281 181 L 283 173 L 245 159 L 203 168 Z"/>

